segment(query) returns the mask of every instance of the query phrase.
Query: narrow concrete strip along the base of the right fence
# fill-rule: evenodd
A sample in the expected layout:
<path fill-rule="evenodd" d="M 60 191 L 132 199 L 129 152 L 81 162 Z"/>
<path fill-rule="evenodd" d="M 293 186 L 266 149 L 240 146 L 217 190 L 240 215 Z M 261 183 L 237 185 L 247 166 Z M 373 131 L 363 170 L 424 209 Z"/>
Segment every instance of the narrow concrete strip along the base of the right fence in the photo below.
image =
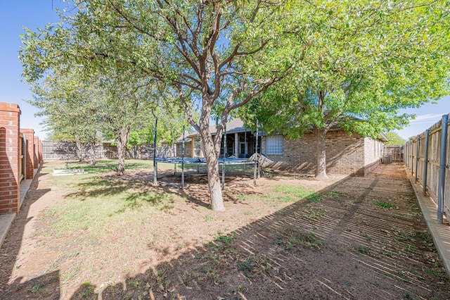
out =
<path fill-rule="evenodd" d="M 416 179 L 411 174 L 406 172 L 414 192 L 418 199 L 420 210 L 427 223 L 428 230 L 433 237 L 437 252 L 442 258 L 447 275 L 450 276 L 450 226 L 448 218 L 444 218 L 444 224 L 437 223 L 437 203 L 433 201 L 429 196 L 423 196 L 423 187 L 415 183 Z"/>

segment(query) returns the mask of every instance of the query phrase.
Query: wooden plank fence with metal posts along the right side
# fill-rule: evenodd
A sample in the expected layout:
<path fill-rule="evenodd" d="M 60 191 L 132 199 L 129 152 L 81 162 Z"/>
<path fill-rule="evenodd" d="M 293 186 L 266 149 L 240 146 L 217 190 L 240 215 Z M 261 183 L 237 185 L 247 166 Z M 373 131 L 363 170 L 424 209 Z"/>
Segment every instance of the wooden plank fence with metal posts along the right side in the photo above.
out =
<path fill-rule="evenodd" d="M 450 130 L 448 115 L 405 145 L 405 165 L 437 201 L 437 222 L 445 214 L 450 218 Z"/>

